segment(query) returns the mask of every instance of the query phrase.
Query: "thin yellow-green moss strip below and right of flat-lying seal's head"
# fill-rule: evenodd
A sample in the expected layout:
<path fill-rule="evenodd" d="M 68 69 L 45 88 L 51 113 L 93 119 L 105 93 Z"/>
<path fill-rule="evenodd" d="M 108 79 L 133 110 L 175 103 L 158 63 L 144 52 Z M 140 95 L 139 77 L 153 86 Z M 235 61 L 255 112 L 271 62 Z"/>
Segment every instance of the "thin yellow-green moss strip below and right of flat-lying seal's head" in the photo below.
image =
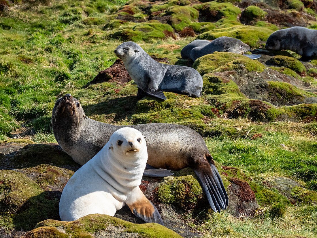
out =
<path fill-rule="evenodd" d="M 256 71 L 262 72 L 265 69 L 265 66 L 257 60 L 252 60 L 249 57 L 235 59 L 231 62 L 226 63 L 225 65 L 219 67 L 218 69 L 213 70 L 213 72 L 223 72 L 229 70 L 240 69 L 243 65 L 249 72 Z"/>

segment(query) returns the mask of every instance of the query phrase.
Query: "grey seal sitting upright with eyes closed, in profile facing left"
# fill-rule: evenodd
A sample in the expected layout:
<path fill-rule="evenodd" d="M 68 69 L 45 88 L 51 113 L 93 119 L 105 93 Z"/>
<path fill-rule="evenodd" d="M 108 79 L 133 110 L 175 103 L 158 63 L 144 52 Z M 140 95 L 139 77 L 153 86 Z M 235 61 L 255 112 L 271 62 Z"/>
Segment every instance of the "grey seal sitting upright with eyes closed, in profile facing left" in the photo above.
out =
<path fill-rule="evenodd" d="M 120 44 L 114 53 L 123 61 L 129 75 L 138 85 L 138 98 L 142 98 L 146 92 L 166 99 L 159 90 L 191 97 L 200 97 L 202 94 L 203 79 L 193 68 L 159 63 L 131 41 Z"/>

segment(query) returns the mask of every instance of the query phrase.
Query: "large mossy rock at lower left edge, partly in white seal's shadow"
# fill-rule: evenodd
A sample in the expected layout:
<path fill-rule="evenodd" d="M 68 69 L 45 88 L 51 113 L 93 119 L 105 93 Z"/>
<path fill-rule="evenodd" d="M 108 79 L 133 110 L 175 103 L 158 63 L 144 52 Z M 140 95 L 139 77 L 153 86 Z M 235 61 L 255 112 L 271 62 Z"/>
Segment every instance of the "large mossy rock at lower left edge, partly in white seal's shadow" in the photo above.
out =
<path fill-rule="evenodd" d="M 0 198 L 3 228 L 30 230 L 40 221 L 59 218 L 59 198 L 20 172 L 0 170 Z"/>

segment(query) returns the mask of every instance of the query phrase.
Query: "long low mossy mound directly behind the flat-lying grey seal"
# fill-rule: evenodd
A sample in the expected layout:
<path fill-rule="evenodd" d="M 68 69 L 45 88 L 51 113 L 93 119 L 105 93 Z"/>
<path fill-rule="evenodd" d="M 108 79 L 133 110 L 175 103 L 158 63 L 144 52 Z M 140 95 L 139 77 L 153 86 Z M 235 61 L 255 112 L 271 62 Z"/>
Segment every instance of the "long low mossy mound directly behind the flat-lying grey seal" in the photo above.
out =
<path fill-rule="evenodd" d="M 259 47 L 265 46 L 268 36 L 272 33 L 273 30 L 264 27 L 236 25 L 207 31 L 197 36 L 196 39 L 214 40 L 221 36 L 229 36 L 241 40 L 250 47 Z"/>

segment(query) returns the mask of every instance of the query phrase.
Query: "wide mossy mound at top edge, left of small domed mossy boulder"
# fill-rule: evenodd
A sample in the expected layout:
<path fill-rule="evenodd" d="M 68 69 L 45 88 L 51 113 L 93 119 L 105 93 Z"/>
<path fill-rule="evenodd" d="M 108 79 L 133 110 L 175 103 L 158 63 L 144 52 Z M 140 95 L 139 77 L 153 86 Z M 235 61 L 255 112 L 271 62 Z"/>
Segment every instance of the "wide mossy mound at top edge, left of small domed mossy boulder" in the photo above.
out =
<path fill-rule="evenodd" d="M 221 18 L 237 21 L 238 15 L 241 14 L 240 8 L 233 6 L 229 2 L 219 3 L 212 1 L 203 4 L 194 4 L 193 7 L 199 10 L 200 21 L 206 22 L 215 22 Z"/>

